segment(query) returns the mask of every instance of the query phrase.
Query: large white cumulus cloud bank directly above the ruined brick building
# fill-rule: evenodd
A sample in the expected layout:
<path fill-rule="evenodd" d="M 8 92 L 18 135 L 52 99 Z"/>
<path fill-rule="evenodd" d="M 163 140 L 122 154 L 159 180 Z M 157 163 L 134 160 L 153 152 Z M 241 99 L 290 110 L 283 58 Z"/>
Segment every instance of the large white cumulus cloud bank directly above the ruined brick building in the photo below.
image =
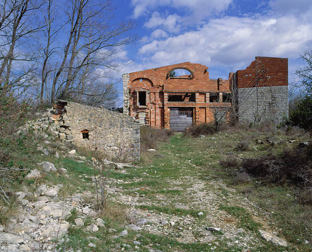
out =
<path fill-rule="evenodd" d="M 154 39 L 139 49 L 144 59 L 159 65 L 201 62 L 209 66 L 246 66 L 254 56 L 298 57 L 312 44 L 312 22 L 295 15 L 224 17 L 195 31 Z"/>

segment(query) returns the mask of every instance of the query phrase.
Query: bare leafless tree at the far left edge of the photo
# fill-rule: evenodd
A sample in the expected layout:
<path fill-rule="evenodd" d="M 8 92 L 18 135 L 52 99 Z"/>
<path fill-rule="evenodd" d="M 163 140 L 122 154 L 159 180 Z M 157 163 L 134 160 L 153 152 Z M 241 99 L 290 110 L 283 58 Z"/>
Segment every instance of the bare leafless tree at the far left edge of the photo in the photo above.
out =
<path fill-rule="evenodd" d="M 23 84 L 29 80 L 27 75 L 35 69 L 34 55 L 27 53 L 25 44 L 32 34 L 43 27 L 33 22 L 34 13 L 42 3 L 1 0 L 0 6 L 0 85 L 6 92 L 10 92 L 12 89 L 27 87 L 29 83 Z M 13 73 L 14 62 L 19 65 L 14 66 Z"/>

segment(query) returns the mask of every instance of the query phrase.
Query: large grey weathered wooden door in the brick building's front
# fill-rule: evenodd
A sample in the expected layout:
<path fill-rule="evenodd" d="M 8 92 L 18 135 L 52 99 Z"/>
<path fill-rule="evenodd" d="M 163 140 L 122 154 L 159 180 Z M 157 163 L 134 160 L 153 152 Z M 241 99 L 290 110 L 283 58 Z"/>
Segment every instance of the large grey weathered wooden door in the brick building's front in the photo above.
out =
<path fill-rule="evenodd" d="M 170 108 L 170 128 L 183 131 L 193 123 L 193 108 Z"/>

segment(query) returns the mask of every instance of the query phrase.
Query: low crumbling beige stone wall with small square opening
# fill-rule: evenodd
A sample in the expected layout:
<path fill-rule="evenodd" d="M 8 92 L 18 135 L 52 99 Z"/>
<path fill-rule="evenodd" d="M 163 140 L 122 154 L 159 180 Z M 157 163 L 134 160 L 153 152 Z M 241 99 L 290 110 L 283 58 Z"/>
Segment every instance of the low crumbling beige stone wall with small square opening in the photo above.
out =
<path fill-rule="evenodd" d="M 74 102 L 54 104 L 49 119 L 53 136 L 77 146 L 98 150 L 107 158 L 140 158 L 139 121 L 103 108 Z"/>

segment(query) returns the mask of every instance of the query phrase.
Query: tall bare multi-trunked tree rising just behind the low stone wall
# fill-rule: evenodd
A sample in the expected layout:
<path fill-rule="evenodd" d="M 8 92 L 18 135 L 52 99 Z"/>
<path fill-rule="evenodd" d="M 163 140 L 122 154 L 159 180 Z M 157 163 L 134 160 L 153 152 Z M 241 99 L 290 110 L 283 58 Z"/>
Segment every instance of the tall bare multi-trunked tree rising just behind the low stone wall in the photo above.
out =
<path fill-rule="evenodd" d="M 63 61 L 56 70 L 52 83 L 51 101 L 57 93 L 62 98 L 68 98 L 70 93 L 77 92 L 75 83 L 79 75 L 86 74 L 97 68 L 116 68 L 118 63 L 110 61 L 115 48 L 131 43 L 134 38 L 126 33 L 134 28 L 131 22 L 118 26 L 111 25 L 113 14 L 111 2 L 95 3 L 90 0 L 72 0 L 67 6 L 66 17 L 69 35 L 63 54 Z M 81 72 L 85 72 L 84 74 Z M 65 79 L 60 79 L 61 74 Z M 82 80 L 81 84 L 84 85 Z M 57 87 L 58 84 L 58 87 Z M 80 93 L 84 93 L 78 87 Z M 90 93 L 87 95 L 91 95 Z"/>

